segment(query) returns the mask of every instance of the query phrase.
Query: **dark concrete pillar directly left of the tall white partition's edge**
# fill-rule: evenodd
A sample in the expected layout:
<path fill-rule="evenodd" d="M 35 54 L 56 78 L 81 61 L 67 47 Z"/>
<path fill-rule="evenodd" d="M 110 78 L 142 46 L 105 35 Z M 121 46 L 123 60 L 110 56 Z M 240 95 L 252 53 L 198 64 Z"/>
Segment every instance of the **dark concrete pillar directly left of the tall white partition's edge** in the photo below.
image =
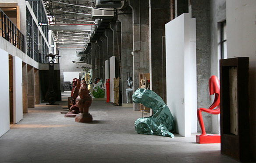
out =
<path fill-rule="evenodd" d="M 171 20 L 170 0 L 150 0 L 150 89 L 166 102 L 165 24 Z M 157 14 L 156 14 L 157 13 Z"/>

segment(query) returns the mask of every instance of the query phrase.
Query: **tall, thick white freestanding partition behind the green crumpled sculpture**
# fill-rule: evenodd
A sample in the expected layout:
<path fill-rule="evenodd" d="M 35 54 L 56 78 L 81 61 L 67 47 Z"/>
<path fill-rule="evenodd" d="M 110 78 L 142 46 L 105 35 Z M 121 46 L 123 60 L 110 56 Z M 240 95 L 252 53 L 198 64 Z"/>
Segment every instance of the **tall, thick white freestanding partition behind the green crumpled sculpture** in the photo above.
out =
<path fill-rule="evenodd" d="M 196 19 L 185 13 L 165 24 L 167 106 L 181 136 L 197 132 Z"/>

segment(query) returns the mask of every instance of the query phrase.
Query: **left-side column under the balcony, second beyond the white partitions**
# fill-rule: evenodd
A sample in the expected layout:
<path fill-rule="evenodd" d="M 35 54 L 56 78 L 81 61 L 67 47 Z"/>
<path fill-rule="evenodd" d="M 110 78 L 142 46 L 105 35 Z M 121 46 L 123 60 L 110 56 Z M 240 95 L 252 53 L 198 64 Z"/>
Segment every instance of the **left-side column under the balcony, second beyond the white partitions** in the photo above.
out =
<path fill-rule="evenodd" d="M 35 108 L 34 67 L 28 65 L 28 108 Z"/>

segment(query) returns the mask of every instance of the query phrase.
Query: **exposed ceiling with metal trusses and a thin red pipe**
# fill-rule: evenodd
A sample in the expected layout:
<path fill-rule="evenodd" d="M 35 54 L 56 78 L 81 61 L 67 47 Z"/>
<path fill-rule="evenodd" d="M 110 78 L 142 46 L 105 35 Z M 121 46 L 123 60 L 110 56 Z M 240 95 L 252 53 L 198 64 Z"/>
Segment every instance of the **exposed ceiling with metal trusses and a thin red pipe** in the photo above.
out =
<path fill-rule="evenodd" d="M 95 24 L 95 19 L 92 19 L 91 15 L 95 0 L 43 0 L 43 2 L 55 42 L 85 47 L 90 41 L 91 30 Z"/>

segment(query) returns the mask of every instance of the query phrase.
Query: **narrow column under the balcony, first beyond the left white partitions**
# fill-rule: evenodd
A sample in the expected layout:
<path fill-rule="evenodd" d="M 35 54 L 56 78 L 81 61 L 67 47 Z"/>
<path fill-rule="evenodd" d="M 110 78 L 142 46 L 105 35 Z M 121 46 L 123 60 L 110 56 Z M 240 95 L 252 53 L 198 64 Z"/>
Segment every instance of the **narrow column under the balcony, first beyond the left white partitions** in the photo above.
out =
<path fill-rule="evenodd" d="M 23 113 L 28 113 L 28 69 L 26 63 L 22 63 L 22 92 Z"/>

